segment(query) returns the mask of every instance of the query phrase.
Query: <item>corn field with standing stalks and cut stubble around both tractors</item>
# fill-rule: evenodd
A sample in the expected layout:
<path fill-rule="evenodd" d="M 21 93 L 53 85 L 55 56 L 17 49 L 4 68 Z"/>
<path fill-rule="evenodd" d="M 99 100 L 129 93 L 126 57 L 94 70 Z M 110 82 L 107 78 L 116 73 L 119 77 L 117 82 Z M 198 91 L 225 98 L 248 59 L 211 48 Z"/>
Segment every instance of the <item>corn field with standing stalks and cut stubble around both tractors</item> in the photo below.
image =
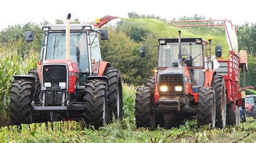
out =
<path fill-rule="evenodd" d="M 28 74 L 36 67 L 36 52 L 22 55 L 18 50 L 0 48 L 0 142 L 187 142 L 187 141 L 255 141 L 256 121 L 248 118 L 241 126 L 211 130 L 210 126 L 197 127 L 196 120 L 186 121 L 179 128 L 166 130 L 158 127 L 136 128 L 134 121 L 134 98 L 136 88 L 123 83 L 122 121 L 113 119 L 109 124 L 95 130 L 80 121 L 58 121 L 9 125 L 9 97 L 13 75 Z"/>

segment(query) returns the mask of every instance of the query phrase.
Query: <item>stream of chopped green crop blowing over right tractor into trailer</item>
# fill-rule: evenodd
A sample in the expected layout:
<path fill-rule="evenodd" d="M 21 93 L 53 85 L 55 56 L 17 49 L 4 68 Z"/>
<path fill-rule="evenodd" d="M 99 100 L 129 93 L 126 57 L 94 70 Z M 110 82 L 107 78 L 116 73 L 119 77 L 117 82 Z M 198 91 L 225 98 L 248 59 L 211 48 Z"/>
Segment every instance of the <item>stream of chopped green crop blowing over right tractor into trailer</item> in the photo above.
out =
<path fill-rule="evenodd" d="M 159 38 L 177 38 L 178 31 L 181 30 L 183 38 L 203 38 L 207 40 L 209 36 L 212 37 L 212 44 L 219 44 L 223 47 L 223 57 L 228 58 L 228 45 L 226 41 L 226 35 L 224 27 L 218 27 L 218 32 L 215 31 L 215 27 L 206 27 L 204 30 L 199 28 L 178 28 L 172 25 L 168 25 L 165 22 L 158 19 L 150 18 L 120 18 L 127 22 L 131 22 L 136 25 L 140 25 L 147 30 L 158 35 Z M 214 29 L 215 28 L 215 29 Z M 215 47 L 215 46 L 214 46 Z M 215 54 L 215 48 L 212 48 L 212 53 Z"/>

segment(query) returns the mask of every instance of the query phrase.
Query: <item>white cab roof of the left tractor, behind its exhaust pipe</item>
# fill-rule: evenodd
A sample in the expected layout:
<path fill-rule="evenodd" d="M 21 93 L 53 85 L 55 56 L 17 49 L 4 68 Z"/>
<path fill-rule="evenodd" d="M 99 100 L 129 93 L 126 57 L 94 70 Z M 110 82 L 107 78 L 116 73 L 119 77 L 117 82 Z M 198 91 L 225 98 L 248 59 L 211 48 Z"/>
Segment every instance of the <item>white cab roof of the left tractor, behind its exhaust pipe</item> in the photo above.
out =
<path fill-rule="evenodd" d="M 43 31 L 63 31 L 66 30 L 65 24 L 49 24 L 42 26 Z M 90 24 L 70 24 L 70 30 L 98 30 L 95 26 Z"/>

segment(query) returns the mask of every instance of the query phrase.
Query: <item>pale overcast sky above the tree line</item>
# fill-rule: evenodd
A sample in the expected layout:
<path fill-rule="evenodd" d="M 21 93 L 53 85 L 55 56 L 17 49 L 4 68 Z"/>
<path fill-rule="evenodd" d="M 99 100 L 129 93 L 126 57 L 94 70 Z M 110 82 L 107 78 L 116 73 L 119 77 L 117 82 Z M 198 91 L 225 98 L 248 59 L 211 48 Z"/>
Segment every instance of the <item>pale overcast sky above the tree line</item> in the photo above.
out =
<path fill-rule="evenodd" d="M 256 23 L 256 1 L 230 0 L 2 0 L 0 30 L 8 25 L 36 22 L 44 19 L 54 23 L 55 19 L 65 19 L 68 13 L 82 22 L 94 21 L 105 15 L 127 18 L 127 12 L 154 14 L 161 18 L 193 16 L 195 13 L 215 19 L 230 19 L 234 24 Z"/>

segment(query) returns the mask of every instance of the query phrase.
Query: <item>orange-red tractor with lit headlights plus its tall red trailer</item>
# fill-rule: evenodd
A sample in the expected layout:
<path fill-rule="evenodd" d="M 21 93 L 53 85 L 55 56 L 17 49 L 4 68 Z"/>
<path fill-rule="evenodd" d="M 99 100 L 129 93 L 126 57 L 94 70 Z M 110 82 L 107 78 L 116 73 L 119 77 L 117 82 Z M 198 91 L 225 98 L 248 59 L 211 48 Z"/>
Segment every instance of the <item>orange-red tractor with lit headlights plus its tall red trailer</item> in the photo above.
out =
<path fill-rule="evenodd" d="M 158 66 L 152 70 L 155 75 L 136 93 L 137 127 L 171 128 L 191 118 L 197 119 L 199 127 L 239 125 L 239 106 L 244 106 L 245 95 L 239 88 L 239 67 L 247 71 L 247 54 L 237 52 L 235 26 L 228 20 L 221 22 L 188 26 L 225 26 L 228 60 L 221 60 L 222 48 L 211 44 L 211 37 L 181 38 L 179 31 L 179 38 L 158 39 Z M 211 55 L 213 45 L 215 56 Z M 140 56 L 144 58 L 145 53 L 142 46 Z"/>

